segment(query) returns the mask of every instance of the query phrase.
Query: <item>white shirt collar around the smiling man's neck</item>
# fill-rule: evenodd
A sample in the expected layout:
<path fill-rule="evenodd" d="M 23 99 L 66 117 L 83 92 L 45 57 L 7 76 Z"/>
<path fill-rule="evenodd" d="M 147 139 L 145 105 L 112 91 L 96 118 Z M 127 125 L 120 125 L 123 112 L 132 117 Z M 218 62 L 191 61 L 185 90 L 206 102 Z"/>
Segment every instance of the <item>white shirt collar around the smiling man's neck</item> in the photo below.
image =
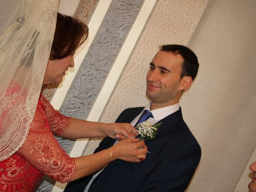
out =
<path fill-rule="evenodd" d="M 147 104 L 147 106 L 144 108 L 144 110 L 150 111 L 150 106 L 151 106 L 151 102 L 149 102 Z M 154 110 L 151 110 L 150 112 L 152 113 L 154 119 L 157 121 L 157 120 L 161 120 L 161 119 L 165 118 L 166 116 L 178 111 L 179 109 L 180 109 L 180 103 L 177 103 L 177 104 L 174 104 L 171 106 L 154 109 Z"/>

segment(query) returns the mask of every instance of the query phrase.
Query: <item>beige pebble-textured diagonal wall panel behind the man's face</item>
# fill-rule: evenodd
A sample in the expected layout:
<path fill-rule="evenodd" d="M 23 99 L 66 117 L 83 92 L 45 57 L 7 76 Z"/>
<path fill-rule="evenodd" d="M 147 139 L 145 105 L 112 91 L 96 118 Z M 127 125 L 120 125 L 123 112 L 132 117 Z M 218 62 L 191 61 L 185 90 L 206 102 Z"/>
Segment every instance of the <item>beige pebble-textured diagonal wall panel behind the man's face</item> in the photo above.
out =
<path fill-rule="evenodd" d="M 128 107 L 144 106 L 149 62 L 162 44 L 186 45 L 208 0 L 159 0 L 106 106 L 101 121 L 113 122 Z"/>

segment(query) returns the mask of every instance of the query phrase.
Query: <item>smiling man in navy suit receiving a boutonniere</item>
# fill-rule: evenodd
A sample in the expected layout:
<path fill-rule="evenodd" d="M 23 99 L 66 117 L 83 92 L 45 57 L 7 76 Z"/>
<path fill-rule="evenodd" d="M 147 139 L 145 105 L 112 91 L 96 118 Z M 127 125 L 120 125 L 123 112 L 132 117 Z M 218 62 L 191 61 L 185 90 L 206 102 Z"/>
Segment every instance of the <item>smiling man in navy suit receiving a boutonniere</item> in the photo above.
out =
<path fill-rule="evenodd" d="M 133 126 L 147 110 L 148 122 L 160 123 L 154 138 L 145 140 L 148 153 L 142 162 L 111 162 L 102 171 L 71 182 L 66 192 L 183 192 L 198 166 L 201 149 L 182 118 L 179 99 L 198 72 L 196 55 L 181 45 L 164 45 L 154 56 L 146 77 L 150 103 L 124 110 L 116 122 Z M 145 112 L 144 112 L 145 111 Z M 143 114 L 143 115 L 142 115 Z M 116 140 L 104 138 L 95 152 Z"/>

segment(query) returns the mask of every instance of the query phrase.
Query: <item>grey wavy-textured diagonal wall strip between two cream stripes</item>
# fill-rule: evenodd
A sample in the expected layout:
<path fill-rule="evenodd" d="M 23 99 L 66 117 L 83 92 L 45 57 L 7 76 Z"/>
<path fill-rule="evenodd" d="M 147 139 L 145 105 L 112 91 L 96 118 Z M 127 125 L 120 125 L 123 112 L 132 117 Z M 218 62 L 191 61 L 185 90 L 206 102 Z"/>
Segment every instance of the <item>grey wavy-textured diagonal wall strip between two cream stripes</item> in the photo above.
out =
<path fill-rule="evenodd" d="M 62 114 L 86 119 L 126 38 L 143 0 L 114 0 L 60 109 Z M 69 152 L 74 142 L 59 140 Z M 65 145 L 65 147 L 64 147 Z"/>

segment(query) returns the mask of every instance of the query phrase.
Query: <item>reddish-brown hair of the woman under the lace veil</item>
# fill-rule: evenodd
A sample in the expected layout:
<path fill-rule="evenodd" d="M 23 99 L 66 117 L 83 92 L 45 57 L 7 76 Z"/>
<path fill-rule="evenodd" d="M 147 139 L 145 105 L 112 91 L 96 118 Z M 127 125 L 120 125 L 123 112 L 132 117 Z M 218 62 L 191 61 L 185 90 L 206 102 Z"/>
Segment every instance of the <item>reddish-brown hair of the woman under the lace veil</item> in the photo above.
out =
<path fill-rule="evenodd" d="M 50 59 L 62 59 L 71 55 L 87 37 L 86 24 L 58 13 Z"/>

